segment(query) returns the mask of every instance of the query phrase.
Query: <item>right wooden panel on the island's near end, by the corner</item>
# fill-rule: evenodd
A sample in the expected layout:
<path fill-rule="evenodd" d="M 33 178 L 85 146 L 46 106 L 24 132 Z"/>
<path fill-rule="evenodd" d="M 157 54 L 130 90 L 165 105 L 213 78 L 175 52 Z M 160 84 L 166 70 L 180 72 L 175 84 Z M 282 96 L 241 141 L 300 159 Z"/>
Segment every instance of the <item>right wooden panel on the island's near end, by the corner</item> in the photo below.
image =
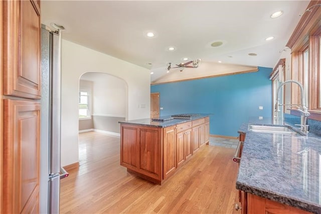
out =
<path fill-rule="evenodd" d="M 139 137 L 139 169 L 150 177 L 162 180 L 162 128 L 140 128 Z"/>

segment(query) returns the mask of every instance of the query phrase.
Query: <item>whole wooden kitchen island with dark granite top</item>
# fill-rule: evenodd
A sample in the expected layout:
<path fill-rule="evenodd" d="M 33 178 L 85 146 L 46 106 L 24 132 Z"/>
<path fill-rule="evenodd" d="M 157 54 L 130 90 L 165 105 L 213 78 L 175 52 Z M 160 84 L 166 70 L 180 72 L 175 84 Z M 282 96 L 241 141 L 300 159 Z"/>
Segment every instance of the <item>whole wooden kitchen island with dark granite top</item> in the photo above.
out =
<path fill-rule="evenodd" d="M 121 121 L 120 165 L 144 179 L 162 184 L 209 143 L 209 115 Z"/>

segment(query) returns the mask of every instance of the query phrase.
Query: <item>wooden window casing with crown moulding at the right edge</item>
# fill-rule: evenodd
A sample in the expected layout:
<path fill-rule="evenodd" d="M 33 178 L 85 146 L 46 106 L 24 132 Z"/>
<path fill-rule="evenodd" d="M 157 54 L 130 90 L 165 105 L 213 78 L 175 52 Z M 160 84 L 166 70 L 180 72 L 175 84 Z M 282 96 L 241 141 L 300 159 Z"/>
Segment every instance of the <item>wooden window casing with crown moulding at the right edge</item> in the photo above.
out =
<path fill-rule="evenodd" d="M 291 53 L 291 79 L 303 83 L 309 118 L 321 120 L 321 1 L 311 1 L 286 44 Z M 299 103 L 299 88 L 291 87 L 291 103 Z"/>

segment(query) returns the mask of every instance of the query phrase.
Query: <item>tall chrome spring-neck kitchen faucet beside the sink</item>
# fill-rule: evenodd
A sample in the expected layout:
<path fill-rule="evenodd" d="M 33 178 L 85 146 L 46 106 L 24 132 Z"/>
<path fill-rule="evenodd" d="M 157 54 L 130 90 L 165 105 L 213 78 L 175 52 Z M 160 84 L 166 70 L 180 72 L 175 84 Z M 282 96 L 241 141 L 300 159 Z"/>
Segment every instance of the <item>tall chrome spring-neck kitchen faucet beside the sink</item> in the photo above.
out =
<path fill-rule="evenodd" d="M 282 106 L 282 104 L 279 104 L 279 90 L 281 87 L 283 87 L 283 85 L 287 84 L 287 83 L 296 83 L 299 87 L 300 87 L 300 90 L 301 90 L 301 104 L 298 105 L 300 106 L 300 108 L 297 108 L 296 110 L 300 112 L 300 115 L 301 115 L 301 124 L 295 124 L 297 126 L 300 126 L 300 130 L 305 134 L 307 135 L 308 133 L 308 125 L 306 125 L 306 120 L 307 120 L 307 117 L 310 116 L 310 113 L 307 111 L 307 107 L 306 107 L 306 103 L 305 103 L 305 93 L 304 93 L 304 87 L 303 85 L 297 81 L 297 80 L 286 80 L 284 82 L 281 83 L 281 85 L 279 85 L 279 87 L 277 87 L 277 90 L 276 90 L 276 104 L 275 104 L 275 112 L 280 112 L 280 109 L 279 109 L 279 106 Z"/>

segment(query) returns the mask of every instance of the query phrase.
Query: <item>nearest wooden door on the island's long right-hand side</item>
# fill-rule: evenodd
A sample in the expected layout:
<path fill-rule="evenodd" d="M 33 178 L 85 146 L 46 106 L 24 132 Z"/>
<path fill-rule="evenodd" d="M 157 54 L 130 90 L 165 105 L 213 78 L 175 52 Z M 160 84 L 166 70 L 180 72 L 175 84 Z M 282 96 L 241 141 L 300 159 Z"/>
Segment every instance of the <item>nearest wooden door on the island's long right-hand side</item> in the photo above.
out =
<path fill-rule="evenodd" d="M 163 178 L 165 179 L 176 169 L 176 126 L 164 128 L 163 138 Z"/>

